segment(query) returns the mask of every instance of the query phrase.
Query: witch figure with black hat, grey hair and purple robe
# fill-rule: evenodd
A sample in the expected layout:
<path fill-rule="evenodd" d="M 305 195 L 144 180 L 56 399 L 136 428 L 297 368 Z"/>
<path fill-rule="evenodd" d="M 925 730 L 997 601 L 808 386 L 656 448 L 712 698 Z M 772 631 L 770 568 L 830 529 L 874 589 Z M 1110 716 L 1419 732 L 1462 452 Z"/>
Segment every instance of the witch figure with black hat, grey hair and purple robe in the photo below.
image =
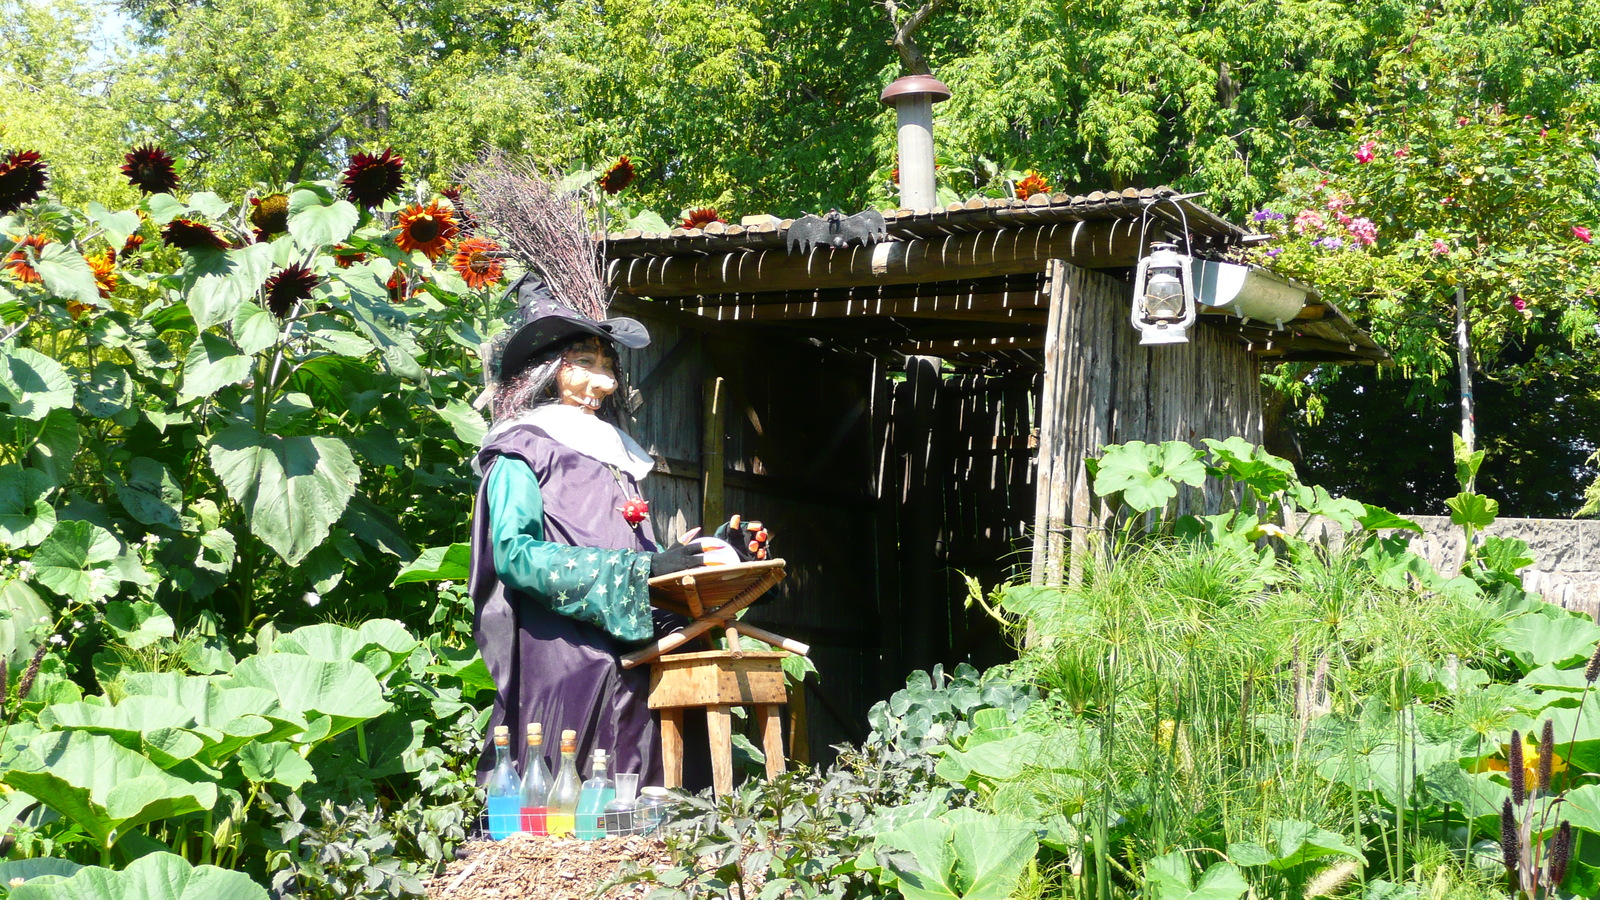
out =
<path fill-rule="evenodd" d="M 533 272 L 512 290 L 520 323 L 486 359 L 493 428 L 475 460 L 469 585 L 498 689 L 490 733 L 571 729 L 578 759 L 603 748 L 613 770 L 661 783 L 650 673 L 618 658 L 683 625 L 651 609 L 648 580 L 701 565 L 702 546 L 658 546 L 638 493 L 653 461 L 618 428 L 616 348 L 650 335 L 634 319 L 576 312 Z M 485 746 L 480 775 L 491 765 Z"/>

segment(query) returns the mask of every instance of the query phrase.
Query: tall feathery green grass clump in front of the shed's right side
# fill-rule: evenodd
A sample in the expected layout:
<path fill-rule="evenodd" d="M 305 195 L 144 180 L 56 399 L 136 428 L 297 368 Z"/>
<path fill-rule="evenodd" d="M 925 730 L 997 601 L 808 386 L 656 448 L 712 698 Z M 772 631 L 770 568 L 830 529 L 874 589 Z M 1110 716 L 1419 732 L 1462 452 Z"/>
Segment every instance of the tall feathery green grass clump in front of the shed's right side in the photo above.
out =
<path fill-rule="evenodd" d="M 1427 852 L 1424 826 L 1438 823 L 1406 815 L 1418 777 L 1410 708 L 1448 666 L 1501 666 L 1490 642 L 1498 609 L 1381 583 L 1355 552 L 1290 560 L 1250 544 L 1157 541 L 1085 554 L 1094 562 L 1080 583 L 1034 604 L 1013 676 L 1045 697 L 1027 727 L 1070 762 L 1029 769 L 987 802 L 1082 830 L 1086 850 L 1064 894 L 1122 897 L 1154 857 L 1184 850 L 1203 868 L 1203 857 L 1267 846 L 1274 823 L 1296 820 L 1357 847 L 1381 842 L 1368 855 L 1392 881 L 1445 879 L 1472 895 L 1462 865 Z M 1376 748 L 1394 749 L 1382 759 L 1397 761 L 1398 812 L 1323 777 L 1378 759 Z M 1350 878 L 1330 870 L 1262 866 L 1253 879 L 1259 897 L 1299 898 Z"/>

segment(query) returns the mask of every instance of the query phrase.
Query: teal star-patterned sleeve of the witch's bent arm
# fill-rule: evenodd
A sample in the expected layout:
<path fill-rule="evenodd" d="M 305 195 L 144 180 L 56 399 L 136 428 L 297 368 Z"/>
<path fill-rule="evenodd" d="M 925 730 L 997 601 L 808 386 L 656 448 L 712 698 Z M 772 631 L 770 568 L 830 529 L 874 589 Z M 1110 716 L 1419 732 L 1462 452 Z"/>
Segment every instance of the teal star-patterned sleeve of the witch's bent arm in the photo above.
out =
<path fill-rule="evenodd" d="M 506 586 L 621 641 L 650 641 L 648 552 L 544 540 L 539 480 L 517 460 L 490 468 L 486 496 L 494 572 Z"/>

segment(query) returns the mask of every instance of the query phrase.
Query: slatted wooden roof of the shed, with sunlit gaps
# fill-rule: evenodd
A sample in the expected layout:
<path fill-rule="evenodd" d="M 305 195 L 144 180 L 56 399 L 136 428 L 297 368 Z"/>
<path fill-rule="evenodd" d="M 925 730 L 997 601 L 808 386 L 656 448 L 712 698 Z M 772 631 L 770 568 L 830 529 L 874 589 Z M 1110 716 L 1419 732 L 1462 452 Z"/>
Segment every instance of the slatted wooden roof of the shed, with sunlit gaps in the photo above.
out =
<path fill-rule="evenodd" d="M 1154 200 L 1173 200 L 1154 203 Z M 1147 234 L 1141 218 L 1149 210 Z M 1181 210 L 1181 213 L 1179 213 Z M 794 219 L 746 216 L 670 232 L 605 235 L 616 290 L 723 322 L 752 322 L 877 354 L 1040 368 L 1046 259 L 1109 274 L 1146 240 L 1187 224 L 1197 256 L 1221 258 L 1246 231 L 1170 187 L 973 199 L 941 210 L 888 210 L 888 240 L 790 253 Z M 1187 219 L 1187 221 L 1184 221 Z M 1205 315 L 1264 359 L 1384 362 L 1389 354 L 1331 304 L 1309 298 L 1283 330 Z"/>

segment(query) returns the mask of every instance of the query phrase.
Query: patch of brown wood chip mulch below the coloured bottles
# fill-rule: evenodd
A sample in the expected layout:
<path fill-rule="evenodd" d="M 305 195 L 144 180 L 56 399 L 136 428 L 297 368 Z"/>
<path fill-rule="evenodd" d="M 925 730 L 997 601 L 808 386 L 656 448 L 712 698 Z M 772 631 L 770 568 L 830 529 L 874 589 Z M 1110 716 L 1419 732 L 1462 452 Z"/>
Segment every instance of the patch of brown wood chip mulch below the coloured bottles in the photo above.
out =
<path fill-rule="evenodd" d="M 429 900 L 638 900 L 648 884 L 600 892 L 632 860 L 666 868 L 667 849 L 654 838 L 534 838 L 462 844 L 464 857 L 426 882 Z"/>

